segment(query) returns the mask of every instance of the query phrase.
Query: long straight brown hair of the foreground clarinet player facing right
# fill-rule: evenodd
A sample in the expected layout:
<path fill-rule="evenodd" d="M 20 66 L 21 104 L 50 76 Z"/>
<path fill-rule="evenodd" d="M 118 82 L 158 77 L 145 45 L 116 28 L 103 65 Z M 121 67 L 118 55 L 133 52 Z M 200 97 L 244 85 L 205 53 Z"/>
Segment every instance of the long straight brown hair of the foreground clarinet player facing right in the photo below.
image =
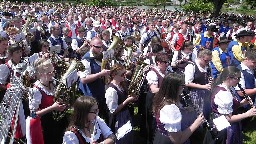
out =
<path fill-rule="evenodd" d="M 180 102 L 178 95 L 179 86 L 185 81 L 185 76 L 179 73 L 168 73 L 164 76 L 159 91 L 153 99 L 153 114 L 159 115 L 160 110 L 168 103 Z"/>

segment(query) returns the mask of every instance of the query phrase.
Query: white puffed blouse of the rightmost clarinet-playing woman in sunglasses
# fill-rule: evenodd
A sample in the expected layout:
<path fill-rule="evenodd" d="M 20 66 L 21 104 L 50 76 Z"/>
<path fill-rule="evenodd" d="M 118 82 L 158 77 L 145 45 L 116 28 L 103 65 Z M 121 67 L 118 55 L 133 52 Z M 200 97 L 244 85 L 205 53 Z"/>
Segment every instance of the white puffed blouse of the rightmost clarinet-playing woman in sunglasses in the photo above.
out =
<path fill-rule="evenodd" d="M 220 114 L 230 114 L 233 112 L 233 95 L 226 85 L 218 86 L 225 88 L 227 91 L 220 90 L 214 97 L 214 103 L 218 106 L 217 110 Z"/>

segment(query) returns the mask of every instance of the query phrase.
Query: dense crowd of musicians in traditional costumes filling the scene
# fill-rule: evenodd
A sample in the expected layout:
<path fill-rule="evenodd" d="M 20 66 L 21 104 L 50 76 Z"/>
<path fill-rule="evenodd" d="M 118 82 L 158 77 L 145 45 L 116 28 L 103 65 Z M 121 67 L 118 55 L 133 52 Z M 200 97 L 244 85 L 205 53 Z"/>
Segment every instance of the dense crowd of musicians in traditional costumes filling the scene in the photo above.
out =
<path fill-rule="evenodd" d="M 212 120 L 222 115 L 231 126 L 219 132 L 211 128 L 203 143 L 242 144 L 242 128 L 256 116 L 254 15 L 213 16 L 157 7 L 1 4 L 1 16 L 9 20 L 0 22 L 1 100 L 13 67 L 25 63 L 23 57 L 34 53 L 40 57 L 33 64 L 35 75 L 29 76 L 34 96 L 21 105 L 15 138 L 32 143 L 33 134 L 28 132 L 33 128 L 26 128 L 26 118 L 33 109 L 43 134 L 36 143 L 132 144 L 136 141 L 133 130 L 119 139 L 116 135 L 128 121 L 133 127 L 137 106 L 142 115 L 140 136 L 147 144 L 190 143 L 195 130 L 210 130 Z M 36 21 L 25 29 L 36 30 L 16 43 L 14 37 L 31 17 Z M 49 47 L 56 45 L 61 46 L 60 53 L 49 54 Z M 109 49 L 114 49 L 114 55 L 104 60 L 103 52 Z M 58 62 L 69 63 L 73 58 L 85 68 L 76 82 L 81 94 L 70 104 L 54 101 L 63 76 Z M 137 65 L 146 65 L 140 74 Z M 135 75 L 139 78 L 131 81 Z M 129 88 L 137 80 L 140 87 Z M 190 105 L 185 106 L 188 99 L 183 96 L 190 97 Z M 73 109 L 70 120 L 53 118 L 52 111 L 67 109 Z"/>

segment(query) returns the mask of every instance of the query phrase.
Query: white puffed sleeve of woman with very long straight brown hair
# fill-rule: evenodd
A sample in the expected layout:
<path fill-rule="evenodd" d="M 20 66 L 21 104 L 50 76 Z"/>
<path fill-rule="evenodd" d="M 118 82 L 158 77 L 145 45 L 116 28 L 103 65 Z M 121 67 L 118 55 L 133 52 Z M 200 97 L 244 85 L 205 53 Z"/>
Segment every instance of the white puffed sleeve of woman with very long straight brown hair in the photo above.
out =
<path fill-rule="evenodd" d="M 175 104 L 165 105 L 160 110 L 159 120 L 164 124 L 164 129 L 169 132 L 178 132 L 181 130 L 182 115 Z"/>

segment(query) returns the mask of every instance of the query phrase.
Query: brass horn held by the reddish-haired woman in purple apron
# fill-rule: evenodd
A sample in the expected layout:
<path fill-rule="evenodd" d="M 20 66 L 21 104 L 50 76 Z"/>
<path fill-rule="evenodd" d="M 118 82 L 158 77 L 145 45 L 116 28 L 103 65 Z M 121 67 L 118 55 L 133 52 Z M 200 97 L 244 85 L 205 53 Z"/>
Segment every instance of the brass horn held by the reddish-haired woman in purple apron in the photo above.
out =
<path fill-rule="evenodd" d="M 140 86 L 142 84 L 142 77 L 140 77 L 143 72 L 144 72 L 144 68 L 148 65 L 146 63 L 144 63 L 143 61 L 139 60 L 139 59 L 135 59 L 136 64 L 135 64 L 135 68 L 133 71 L 133 75 L 130 81 L 130 84 L 128 86 L 128 95 L 132 94 L 132 91 L 134 90 L 134 94 L 133 96 L 140 96 L 139 94 L 139 90 L 140 90 Z M 134 104 L 134 102 L 130 102 L 129 103 L 129 107 L 131 107 Z"/>

